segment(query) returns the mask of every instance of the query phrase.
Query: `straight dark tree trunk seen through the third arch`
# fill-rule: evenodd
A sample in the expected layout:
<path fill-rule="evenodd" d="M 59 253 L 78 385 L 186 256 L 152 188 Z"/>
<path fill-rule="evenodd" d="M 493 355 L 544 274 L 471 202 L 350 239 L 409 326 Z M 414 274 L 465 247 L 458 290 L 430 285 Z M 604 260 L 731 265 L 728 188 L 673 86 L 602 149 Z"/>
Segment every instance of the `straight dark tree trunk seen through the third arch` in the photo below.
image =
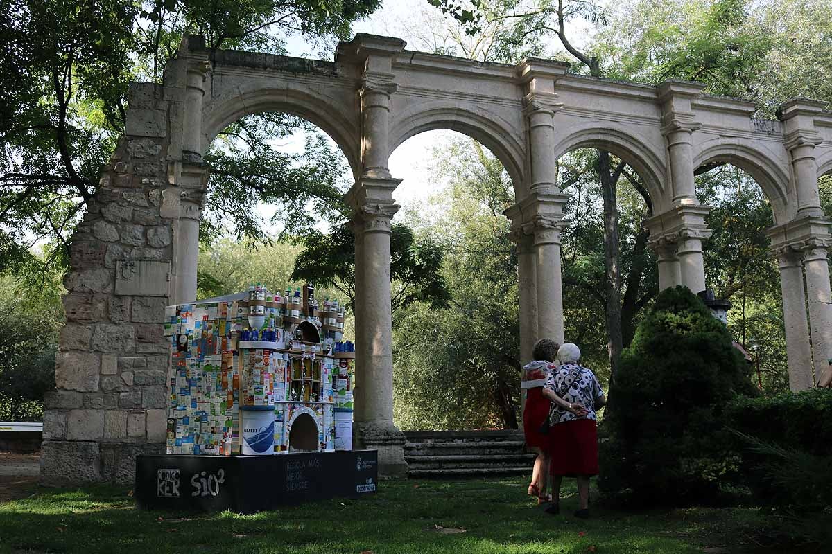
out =
<path fill-rule="evenodd" d="M 623 350 L 621 269 L 619 267 L 618 205 L 616 184 L 618 173 L 612 174 L 610 153 L 598 150 L 598 176 L 601 180 L 601 196 L 604 201 L 604 296 L 607 297 L 607 352 L 610 356 L 610 378 L 618 370 Z"/>

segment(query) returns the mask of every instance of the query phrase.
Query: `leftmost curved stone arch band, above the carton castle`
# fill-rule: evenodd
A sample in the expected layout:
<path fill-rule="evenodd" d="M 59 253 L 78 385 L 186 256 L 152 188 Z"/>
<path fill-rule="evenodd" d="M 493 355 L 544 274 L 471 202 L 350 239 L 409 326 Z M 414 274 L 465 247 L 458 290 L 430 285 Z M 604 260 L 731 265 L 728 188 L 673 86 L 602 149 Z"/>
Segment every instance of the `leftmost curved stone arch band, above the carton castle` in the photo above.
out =
<path fill-rule="evenodd" d="M 303 118 L 329 135 L 346 156 L 353 176 L 361 172 L 359 125 L 339 103 L 308 88 L 287 85 L 235 87 L 206 102 L 202 108 L 202 151 L 228 125 L 246 115 L 280 111 Z"/>

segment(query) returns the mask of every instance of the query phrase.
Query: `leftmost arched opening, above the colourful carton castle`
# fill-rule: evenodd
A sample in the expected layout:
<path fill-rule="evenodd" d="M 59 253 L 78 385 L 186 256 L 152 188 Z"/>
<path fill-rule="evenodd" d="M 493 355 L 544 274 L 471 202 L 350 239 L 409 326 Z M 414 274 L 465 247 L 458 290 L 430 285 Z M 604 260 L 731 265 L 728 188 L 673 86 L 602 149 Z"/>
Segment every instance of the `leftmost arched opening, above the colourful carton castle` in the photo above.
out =
<path fill-rule="evenodd" d="M 215 139 L 204 155 L 210 172 L 200 222 L 200 298 L 240 292 L 256 282 L 272 292 L 294 293 L 314 281 L 292 278 L 297 257 L 344 223 L 342 196 L 353 182 L 353 168 L 339 142 L 310 120 L 265 111 L 213 130 L 258 105 L 206 116 L 207 136 Z M 332 281 L 318 287 L 316 296 L 348 304 L 340 290 L 346 287 Z"/>

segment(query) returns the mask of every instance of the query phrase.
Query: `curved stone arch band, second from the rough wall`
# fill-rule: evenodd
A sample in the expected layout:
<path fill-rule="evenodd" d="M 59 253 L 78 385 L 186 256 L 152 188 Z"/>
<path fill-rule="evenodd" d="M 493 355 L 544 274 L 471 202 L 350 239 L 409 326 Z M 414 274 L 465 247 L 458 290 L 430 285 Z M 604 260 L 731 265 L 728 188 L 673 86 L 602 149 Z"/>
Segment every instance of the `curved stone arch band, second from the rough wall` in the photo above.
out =
<path fill-rule="evenodd" d="M 478 114 L 458 105 L 431 102 L 404 110 L 390 129 L 392 154 L 405 140 L 428 130 L 453 130 L 468 135 L 491 150 L 512 179 L 514 192 L 522 186 L 523 148 L 516 137 L 521 134 L 498 115 Z"/>

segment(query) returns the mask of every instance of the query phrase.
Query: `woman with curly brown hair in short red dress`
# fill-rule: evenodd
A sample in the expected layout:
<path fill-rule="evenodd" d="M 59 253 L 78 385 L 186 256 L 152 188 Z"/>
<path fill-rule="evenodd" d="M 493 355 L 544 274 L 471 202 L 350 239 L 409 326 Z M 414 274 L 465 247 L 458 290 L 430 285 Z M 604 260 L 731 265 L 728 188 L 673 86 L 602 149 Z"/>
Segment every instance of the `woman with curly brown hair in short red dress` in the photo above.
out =
<path fill-rule="evenodd" d="M 551 502 L 547 496 L 547 478 L 549 473 L 549 456 L 547 435 L 540 433 L 540 426 L 549 417 L 549 400 L 543 396 L 543 385 L 546 385 L 548 375 L 557 370 L 555 357 L 557 356 L 557 342 L 541 339 L 534 345 L 532 357 L 535 361 L 523 367 L 520 388 L 525 390 L 526 407 L 522 412 L 522 429 L 526 437 L 526 447 L 534 453 L 532 483 L 528 486 L 528 493 L 537 497 L 537 503 Z"/>

